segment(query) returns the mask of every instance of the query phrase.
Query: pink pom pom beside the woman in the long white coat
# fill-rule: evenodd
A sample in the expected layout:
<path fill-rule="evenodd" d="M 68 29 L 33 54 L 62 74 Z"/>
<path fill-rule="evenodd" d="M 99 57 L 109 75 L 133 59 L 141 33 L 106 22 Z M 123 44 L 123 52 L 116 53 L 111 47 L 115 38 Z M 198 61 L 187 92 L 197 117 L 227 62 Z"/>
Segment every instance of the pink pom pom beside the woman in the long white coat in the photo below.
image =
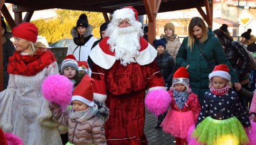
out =
<path fill-rule="evenodd" d="M 66 108 L 71 103 L 73 83 L 65 76 L 56 74 L 48 76 L 42 84 L 45 99 Z"/>

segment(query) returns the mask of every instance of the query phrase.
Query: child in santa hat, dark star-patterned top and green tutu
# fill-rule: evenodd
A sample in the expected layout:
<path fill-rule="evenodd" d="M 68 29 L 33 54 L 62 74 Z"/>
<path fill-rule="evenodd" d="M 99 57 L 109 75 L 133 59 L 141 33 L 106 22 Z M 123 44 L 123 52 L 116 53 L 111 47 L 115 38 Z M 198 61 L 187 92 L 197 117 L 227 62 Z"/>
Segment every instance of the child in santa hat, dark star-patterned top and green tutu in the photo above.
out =
<path fill-rule="evenodd" d="M 210 90 L 204 94 L 204 103 L 192 137 L 203 144 L 249 143 L 243 126 L 248 127 L 250 132 L 251 124 L 238 94 L 230 87 L 231 76 L 227 65 L 215 66 L 209 80 Z"/>

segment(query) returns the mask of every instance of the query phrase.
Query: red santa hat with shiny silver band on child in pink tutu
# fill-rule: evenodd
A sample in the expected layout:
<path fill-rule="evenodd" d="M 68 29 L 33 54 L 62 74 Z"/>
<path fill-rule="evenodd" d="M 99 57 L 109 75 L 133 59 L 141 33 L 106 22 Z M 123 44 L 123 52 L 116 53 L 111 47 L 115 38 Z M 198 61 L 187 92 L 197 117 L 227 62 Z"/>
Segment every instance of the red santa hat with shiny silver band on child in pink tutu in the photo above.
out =
<path fill-rule="evenodd" d="M 189 90 L 189 74 L 185 67 L 178 68 L 173 75 L 172 88 L 176 89 L 175 84 L 183 84 L 186 86 L 186 90 Z"/>

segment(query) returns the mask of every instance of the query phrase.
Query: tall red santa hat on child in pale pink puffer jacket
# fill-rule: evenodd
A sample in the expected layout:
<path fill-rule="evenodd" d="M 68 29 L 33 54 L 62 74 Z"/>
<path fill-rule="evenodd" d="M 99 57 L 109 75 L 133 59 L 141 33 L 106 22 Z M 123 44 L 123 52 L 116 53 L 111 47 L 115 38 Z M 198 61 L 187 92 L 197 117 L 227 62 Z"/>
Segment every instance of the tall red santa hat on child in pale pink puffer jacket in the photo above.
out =
<path fill-rule="evenodd" d="M 77 87 L 75 87 L 71 101 L 79 100 L 88 106 L 93 106 L 93 92 L 92 92 L 92 82 L 94 79 L 88 75 L 84 75 Z"/>

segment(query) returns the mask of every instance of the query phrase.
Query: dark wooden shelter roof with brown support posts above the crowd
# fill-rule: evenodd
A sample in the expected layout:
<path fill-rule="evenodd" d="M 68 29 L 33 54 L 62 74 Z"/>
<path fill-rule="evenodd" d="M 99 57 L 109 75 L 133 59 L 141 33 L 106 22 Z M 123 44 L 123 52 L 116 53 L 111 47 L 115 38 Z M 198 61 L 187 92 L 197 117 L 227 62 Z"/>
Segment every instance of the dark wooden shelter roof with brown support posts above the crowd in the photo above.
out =
<path fill-rule="evenodd" d="M 13 4 L 14 19 L 11 17 L 5 3 Z M 116 9 L 124 6 L 134 6 L 139 15 L 146 14 L 148 16 L 149 43 L 152 43 L 156 36 L 157 13 L 196 8 L 208 26 L 212 27 L 213 0 L 0 0 L 1 12 L 11 29 L 23 22 L 30 22 L 34 11 L 42 9 L 61 8 L 101 12 L 105 20 L 109 21 L 107 13 L 113 13 Z M 202 7 L 205 7 L 206 13 Z M 22 19 L 22 12 L 26 12 L 24 19 Z M 2 39 L 2 36 L 0 38 Z M 0 48 L 2 48 L 1 41 Z M 0 51 L 0 58 L 0 67 L 2 68 L 2 51 Z M 3 72 L 0 71 L 0 90 L 2 89 Z"/>

